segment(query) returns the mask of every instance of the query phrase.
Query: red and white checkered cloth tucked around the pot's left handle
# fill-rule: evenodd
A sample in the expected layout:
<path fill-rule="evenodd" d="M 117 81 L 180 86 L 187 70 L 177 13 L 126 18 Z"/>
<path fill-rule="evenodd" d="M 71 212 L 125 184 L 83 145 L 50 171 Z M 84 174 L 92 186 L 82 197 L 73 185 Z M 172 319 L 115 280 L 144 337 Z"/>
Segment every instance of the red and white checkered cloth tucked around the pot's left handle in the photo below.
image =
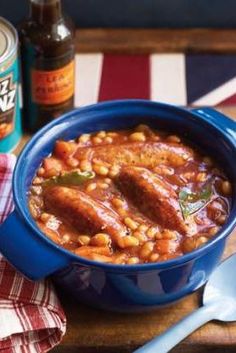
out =
<path fill-rule="evenodd" d="M 15 156 L 0 154 L 0 223 L 13 210 Z M 49 280 L 31 282 L 0 255 L 0 352 L 40 353 L 58 344 L 66 317 Z"/>

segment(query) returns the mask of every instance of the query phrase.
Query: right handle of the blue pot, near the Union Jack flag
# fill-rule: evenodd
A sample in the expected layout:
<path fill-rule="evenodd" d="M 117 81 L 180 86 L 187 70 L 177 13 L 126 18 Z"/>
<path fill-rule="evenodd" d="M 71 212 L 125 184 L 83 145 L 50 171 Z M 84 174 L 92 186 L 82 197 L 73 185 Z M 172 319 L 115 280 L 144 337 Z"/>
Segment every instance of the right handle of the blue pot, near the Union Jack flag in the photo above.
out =
<path fill-rule="evenodd" d="M 212 108 L 191 109 L 191 112 L 201 116 L 206 121 L 210 121 L 218 130 L 223 131 L 228 137 L 236 142 L 236 122 L 226 115 Z"/>

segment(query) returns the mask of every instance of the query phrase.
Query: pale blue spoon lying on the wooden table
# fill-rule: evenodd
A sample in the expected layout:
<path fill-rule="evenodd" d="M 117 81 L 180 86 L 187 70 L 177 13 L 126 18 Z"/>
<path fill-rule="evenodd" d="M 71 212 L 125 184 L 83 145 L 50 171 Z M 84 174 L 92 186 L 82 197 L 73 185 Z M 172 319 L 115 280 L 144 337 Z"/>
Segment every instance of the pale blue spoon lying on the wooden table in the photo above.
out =
<path fill-rule="evenodd" d="M 236 254 L 222 262 L 210 276 L 203 306 L 134 353 L 166 353 L 193 331 L 211 320 L 236 321 Z"/>

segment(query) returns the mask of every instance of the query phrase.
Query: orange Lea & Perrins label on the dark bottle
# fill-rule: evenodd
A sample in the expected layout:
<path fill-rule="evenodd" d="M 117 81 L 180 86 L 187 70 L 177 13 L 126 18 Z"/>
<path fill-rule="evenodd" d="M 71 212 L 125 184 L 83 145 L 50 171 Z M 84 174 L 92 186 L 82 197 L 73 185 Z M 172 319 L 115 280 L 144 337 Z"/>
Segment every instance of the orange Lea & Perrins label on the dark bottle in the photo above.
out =
<path fill-rule="evenodd" d="M 60 104 L 74 94 L 74 61 L 52 71 L 32 70 L 33 101 L 42 105 Z"/>

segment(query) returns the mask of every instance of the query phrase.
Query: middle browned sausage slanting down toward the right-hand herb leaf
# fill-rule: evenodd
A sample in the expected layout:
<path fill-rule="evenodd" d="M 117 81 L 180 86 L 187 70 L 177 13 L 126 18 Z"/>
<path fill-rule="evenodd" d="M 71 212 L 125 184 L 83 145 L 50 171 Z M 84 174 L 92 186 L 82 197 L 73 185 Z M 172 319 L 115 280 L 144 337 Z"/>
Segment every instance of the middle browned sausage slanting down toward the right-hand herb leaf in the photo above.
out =
<path fill-rule="evenodd" d="M 158 176 L 145 168 L 124 167 L 117 178 L 121 191 L 152 220 L 186 234 L 177 195 Z"/>

